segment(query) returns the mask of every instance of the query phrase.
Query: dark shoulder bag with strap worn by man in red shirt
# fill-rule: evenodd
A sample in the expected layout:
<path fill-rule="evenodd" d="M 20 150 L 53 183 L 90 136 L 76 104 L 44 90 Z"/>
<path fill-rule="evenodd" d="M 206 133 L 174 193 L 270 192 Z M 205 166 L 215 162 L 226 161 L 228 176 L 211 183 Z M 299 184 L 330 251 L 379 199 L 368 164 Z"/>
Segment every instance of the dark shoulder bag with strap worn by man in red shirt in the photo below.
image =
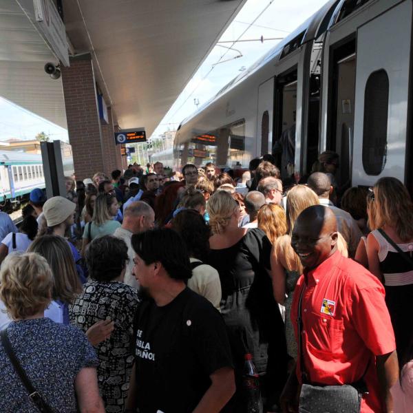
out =
<path fill-rule="evenodd" d="M 301 319 L 301 303 L 304 295 L 305 285 L 301 289 L 298 301 L 297 331 L 299 343 L 299 357 L 301 370 L 301 392 L 299 395 L 299 413 L 359 413 L 363 393 L 367 392 L 364 376 L 357 383 L 343 385 L 313 385 L 308 382 L 308 374 L 304 369 L 303 344 L 301 332 L 303 329 Z"/>

